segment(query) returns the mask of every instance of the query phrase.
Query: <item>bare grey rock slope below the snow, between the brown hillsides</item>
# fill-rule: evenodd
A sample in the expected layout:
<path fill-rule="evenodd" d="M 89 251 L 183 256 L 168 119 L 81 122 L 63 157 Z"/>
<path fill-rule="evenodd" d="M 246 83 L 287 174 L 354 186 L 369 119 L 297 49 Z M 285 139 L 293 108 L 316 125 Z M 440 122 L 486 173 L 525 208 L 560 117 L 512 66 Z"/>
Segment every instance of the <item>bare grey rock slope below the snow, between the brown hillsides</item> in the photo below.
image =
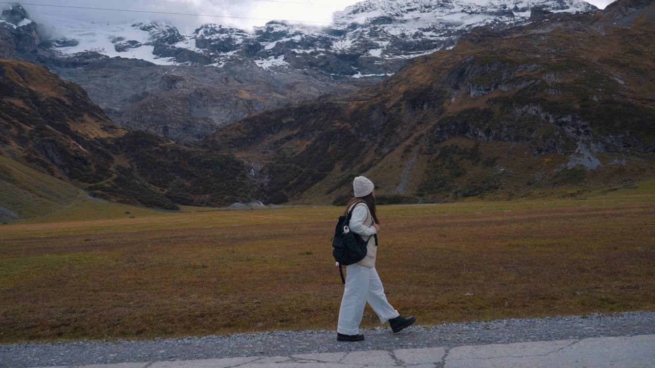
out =
<path fill-rule="evenodd" d="M 83 85 L 118 124 L 186 143 L 254 113 L 367 85 L 242 65 L 177 67 L 100 55 L 80 64 L 52 71 Z"/>

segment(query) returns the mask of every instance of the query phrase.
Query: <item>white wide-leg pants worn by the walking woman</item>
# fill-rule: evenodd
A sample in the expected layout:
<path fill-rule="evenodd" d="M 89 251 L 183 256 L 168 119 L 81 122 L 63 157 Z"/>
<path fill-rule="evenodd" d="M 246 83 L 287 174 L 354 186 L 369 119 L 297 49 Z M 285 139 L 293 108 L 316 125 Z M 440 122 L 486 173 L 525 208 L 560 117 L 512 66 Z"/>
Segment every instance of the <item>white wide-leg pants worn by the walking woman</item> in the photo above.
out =
<path fill-rule="evenodd" d="M 373 308 L 381 323 L 400 316 L 398 311 L 386 301 L 384 287 L 375 267 L 350 265 L 346 267 L 346 285 L 339 310 L 338 333 L 344 335 L 360 333 L 366 302 Z"/>

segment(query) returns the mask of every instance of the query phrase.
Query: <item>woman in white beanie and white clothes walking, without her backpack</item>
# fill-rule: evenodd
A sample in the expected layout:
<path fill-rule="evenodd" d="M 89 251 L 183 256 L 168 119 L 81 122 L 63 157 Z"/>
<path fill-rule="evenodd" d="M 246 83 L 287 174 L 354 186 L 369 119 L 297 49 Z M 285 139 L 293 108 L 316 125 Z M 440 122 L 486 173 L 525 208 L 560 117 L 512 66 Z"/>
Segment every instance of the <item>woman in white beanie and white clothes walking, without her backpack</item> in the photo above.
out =
<path fill-rule="evenodd" d="M 359 263 L 346 267 L 346 285 L 339 310 L 337 325 L 338 341 L 361 341 L 360 323 L 364 315 L 366 302 L 380 318 L 381 323 L 387 321 L 394 333 L 401 331 L 416 321 L 414 316 L 403 318 L 398 311 L 386 301 L 384 287 L 375 270 L 375 255 L 377 253 L 377 233 L 380 221 L 375 210 L 375 187 L 373 182 L 364 176 L 358 176 L 352 181 L 354 198 L 348 201 L 346 212 L 352 210 L 348 227 L 350 231 L 359 234 L 367 241 L 366 257 Z"/>

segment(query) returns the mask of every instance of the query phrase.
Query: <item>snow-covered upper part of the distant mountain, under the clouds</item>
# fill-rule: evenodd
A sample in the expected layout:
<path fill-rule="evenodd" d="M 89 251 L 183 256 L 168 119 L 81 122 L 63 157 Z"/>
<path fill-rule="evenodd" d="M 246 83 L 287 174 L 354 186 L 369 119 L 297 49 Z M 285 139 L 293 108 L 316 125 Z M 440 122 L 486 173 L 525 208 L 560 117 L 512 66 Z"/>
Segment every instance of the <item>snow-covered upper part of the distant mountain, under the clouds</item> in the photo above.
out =
<path fill-rule="evenodd" d="M 264 69 L 322 66 L 331 77 L 390 75 L 404 62 L 449 48 L 477 26 L 507 28 L 527 22 L 531 9 L 586 12 L 580 0 L 365 0 L 333 14 L 334 24 L 316 29 L 269 22 L 253 31 L 217 24 L 190 35 L 170 24 L 98 24 L 53 19 L 63 54 L 98 52 L 162 65 L 226 65 Z"/>

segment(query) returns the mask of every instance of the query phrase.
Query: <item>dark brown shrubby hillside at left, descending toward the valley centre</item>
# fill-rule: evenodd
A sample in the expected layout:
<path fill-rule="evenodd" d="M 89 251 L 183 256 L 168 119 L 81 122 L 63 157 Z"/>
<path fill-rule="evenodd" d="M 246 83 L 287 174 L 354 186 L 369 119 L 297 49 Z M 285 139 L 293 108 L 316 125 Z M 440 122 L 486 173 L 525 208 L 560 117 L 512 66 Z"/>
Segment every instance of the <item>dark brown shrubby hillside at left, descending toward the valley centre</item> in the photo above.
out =
<path fill-rule="evenodd" d="M 153 208 L 227 206 L 257 191 L 234 156 L 128 132 L 77 84 L 13 60 L 0 60 L 0 155 L 98 198 Z M 7 175 L 0 180 L 24 182 Z M 22 212 L 10 203 L 0 208 Z"/>

